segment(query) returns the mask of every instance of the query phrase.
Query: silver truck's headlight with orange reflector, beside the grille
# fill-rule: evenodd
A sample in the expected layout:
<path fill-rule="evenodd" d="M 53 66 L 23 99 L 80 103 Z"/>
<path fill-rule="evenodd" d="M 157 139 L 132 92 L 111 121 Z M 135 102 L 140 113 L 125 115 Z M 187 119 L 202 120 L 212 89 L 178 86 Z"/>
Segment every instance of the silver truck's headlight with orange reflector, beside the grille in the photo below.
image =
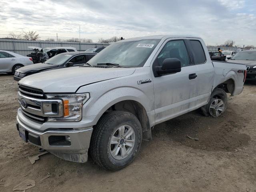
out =
<path fill-rule="evenodd" d="M 62 99 L 63 117 L 49 117 L 48 121 L 80 121 L 82 106 L 90 98 L 89 93 L 46 95 L 48 99 Z"/>

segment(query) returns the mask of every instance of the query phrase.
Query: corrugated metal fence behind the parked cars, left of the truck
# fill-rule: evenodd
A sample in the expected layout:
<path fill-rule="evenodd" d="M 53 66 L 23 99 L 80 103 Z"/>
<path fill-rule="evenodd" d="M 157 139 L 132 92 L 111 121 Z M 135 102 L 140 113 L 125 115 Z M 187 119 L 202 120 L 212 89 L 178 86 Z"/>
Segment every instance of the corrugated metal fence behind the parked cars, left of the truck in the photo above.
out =
<path fill-rule="evenodd" d="M 108 46 L 109 44 L 104 43 L 82 43 L 82 42 L 55 42 L 55 41 L 28 41 L 28 40 L 9 40 L 0 39 L 0 50 L 11 51 L 23 56 L 30 54 L 32 49 L 28 46 L 35 47 L 74 47 L 78 51 L 84 51 L 88 48 L 98 46 Z"/>

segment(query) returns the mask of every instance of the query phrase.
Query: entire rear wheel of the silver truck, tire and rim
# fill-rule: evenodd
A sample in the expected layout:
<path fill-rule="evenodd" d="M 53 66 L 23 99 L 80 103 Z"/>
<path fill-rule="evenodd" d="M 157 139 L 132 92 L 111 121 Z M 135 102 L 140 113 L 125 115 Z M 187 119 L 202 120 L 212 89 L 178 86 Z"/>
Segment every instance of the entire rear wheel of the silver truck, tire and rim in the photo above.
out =
<path fill-rule="evenodd" d="M 223 89 L 215 89 L 210 97 L 208 104 L 202 106 L 201 110 L 204 116 L 218 117 L 224 113 L 227 108 L 228 97 Z"/>

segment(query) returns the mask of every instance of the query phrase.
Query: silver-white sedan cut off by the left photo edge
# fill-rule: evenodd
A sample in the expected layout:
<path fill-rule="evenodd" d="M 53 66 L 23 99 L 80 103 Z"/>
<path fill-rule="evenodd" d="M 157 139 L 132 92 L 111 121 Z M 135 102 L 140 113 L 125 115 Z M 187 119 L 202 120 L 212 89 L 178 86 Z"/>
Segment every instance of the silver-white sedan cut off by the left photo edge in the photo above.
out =
<path fill-rule="evenodd" d="M 0 50 L 0 73 L 14 74 L 18 68 L 33 64 L 31 57 Z"/>

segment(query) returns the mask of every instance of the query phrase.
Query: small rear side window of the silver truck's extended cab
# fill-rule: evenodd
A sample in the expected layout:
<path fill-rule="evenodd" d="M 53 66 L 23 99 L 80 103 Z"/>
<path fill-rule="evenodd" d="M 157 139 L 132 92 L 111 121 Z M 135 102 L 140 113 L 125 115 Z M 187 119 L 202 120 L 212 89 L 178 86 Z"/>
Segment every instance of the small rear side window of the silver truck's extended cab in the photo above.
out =
<path fill-rule="evenodd" d="M 192 47 L 194 64 L 204 63 L 206 61 L 206 57 L 204 54 L 204 49 L 200 41 L 190 40 L 190 45 Z"/>

